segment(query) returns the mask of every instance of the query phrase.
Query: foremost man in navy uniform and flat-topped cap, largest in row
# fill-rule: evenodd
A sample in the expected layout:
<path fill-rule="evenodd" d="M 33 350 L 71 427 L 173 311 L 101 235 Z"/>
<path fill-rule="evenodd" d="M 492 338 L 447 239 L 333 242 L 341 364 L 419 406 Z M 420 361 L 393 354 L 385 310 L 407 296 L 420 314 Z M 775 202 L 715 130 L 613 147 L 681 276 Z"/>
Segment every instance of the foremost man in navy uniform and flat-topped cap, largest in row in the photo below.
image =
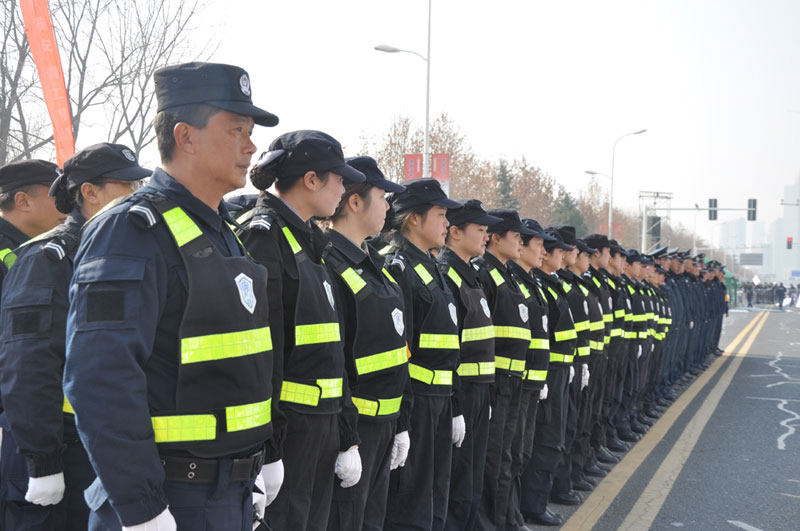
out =
<path fill-rule="evenodd" d="M 254 124 L 278 123 L 251 90 L 235 66 L 156 71 L 163 169 L 84 227 L 64 392 L 98 476 L 91 529 L 253 527 L 275 455 L 267 272 L 222 203 L 244 185 Z"/>

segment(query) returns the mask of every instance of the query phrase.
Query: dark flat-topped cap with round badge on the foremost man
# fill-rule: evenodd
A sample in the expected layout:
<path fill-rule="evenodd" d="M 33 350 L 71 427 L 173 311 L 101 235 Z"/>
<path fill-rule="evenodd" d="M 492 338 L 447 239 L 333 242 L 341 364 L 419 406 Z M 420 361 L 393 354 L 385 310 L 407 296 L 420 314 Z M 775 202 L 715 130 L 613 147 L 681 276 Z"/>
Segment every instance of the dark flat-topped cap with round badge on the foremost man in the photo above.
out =
<path fill-rule="evenodd" d="M 220 63 L 183 63 L 156 70 L 158 112 L 205 103 L 272 127 L 278 117 L 253 105 L 250 76 L 238 66 Z"/>

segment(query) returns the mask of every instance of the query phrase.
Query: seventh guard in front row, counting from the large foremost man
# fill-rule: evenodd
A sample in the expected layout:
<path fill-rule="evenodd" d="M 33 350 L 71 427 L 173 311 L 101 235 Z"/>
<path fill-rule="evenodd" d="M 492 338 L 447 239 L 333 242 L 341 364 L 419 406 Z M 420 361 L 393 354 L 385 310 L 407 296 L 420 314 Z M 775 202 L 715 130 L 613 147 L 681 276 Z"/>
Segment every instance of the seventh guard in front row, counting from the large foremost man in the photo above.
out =
<path fill-rule="evenodd" d="M 509 261 L 509 267 L 527 297 L 531 344 L 525 360 L 525 373 L 522 376 L 519 422 L 511 445 L 511 496 L 506 522 L 507 527 L 512 529 L 515 526 L 524 529 L 525 526 L 525 518 L 520 512 L 522 473 L 531 460 L 536 433 L 536 414 L 539 400 L 547 398 L 547 369 L 550 365 L 547 296 L 541 283 L 531 271 L 542 266 L 544 242 L 551 242 L 554 239 L 544 232 L 538 221 L 523 219 L 522 223 L 533 234 L 522 237 L 519 259 Z"/>

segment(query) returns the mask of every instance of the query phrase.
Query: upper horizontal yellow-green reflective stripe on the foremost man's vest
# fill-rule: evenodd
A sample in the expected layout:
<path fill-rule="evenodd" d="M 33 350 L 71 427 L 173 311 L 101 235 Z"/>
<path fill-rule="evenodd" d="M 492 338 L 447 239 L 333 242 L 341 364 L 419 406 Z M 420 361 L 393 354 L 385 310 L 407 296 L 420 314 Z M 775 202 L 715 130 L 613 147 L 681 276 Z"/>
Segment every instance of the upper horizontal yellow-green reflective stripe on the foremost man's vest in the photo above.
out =
<path fill-rule="evenodd" d="M 250 356 L 272 350 L 268 326 L 242 332 L 181 339 L 181 364 Z"/>

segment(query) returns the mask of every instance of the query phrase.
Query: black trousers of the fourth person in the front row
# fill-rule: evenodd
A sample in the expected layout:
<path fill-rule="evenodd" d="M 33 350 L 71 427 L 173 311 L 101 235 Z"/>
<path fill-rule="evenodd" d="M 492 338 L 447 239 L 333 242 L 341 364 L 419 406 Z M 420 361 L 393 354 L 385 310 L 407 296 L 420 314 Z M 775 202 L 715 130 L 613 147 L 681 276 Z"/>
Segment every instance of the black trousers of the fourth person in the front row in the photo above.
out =
<path fill-rule="evenodd" d="M 414 396 L 406 466 L 389 476 L 384 529 L 441 530 L 447 518 L 453 413 L 449 396 Z"/>

